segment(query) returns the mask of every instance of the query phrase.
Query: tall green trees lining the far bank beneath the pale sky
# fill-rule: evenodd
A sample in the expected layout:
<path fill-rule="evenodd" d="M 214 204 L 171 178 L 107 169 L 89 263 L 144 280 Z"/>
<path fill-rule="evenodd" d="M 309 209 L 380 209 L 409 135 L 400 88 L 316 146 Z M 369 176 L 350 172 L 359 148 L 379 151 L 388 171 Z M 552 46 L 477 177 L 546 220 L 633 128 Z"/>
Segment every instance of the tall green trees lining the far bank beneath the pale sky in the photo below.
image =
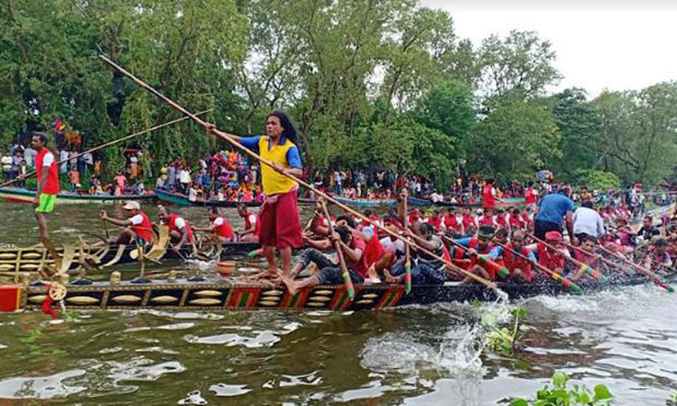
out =
<path fill-rule="evenodd" d="M 477 48 L 418 0 L 5 0 L 0 5 L 0 143 L 57 117 L 88 146 L 178 114 L 97 59 L 103 51 L 192 111 L 260 134 L 289 110 L 314 169 L 455 171 L 503 180 L 548 168 L 655 183 L 677 167 L 677 85 L 547 96 L 561 78 L 535 32 Z M 134 141 L 155 163 L 218 143 L 188 122 Z M 108 170 L 123 147 L 106 152 Z M 463 164 L 465 162 L 465 164 Z"/>

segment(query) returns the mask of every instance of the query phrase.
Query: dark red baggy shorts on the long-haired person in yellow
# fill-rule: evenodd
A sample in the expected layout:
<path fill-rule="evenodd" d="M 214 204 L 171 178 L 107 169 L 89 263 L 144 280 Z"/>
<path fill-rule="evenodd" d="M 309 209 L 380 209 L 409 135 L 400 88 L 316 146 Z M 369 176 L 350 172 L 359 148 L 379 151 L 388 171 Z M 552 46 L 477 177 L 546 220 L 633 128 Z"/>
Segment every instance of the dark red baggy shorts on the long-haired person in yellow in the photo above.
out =
<path fill-rule="evenodd" d="M 264 205 L 258 212 L 258 220 L 261 222 L 258 240 L 261 245 L 274 245 L 278 248 L 303 246 L 301 219 L 296 202 L 298 194 L 298 189 L 293 189 L 264 200 Z"/>

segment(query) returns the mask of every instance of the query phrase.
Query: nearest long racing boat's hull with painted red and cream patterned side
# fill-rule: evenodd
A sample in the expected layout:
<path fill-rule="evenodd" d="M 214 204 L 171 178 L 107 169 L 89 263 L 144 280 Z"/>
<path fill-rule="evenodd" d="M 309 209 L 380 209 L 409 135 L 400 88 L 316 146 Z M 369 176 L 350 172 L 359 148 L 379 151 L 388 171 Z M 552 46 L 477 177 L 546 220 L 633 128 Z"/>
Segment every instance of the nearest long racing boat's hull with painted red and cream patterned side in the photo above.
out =
<path fill-rule="evenodd" d="M 644 284 L 644 277 L 622 281 L 580 283 L 583 294 L 619 286 Z M 320 285 L 291 295 L 283 286 L 241 284 L 221 279 L 193 278 L 176 281 L 93 282 L 88 285 L 67 284 L 55 300 L 63 300 L 67 309 L 309 309 L 361 310 L 388 309 L 412 304 L 496 300 L 495 291 L 478 284 L 447 282 L 443 285 L 413 286 L 410 294 L 403 285 L 385 283 L 355 286 L 355 298 L 349 300 L 341 285 Z M 500 284 L 510 299 L 536 295 L 569 294 L 559 283 L 542 281 L 534 284 Z M 58 291 L 58 289 L 56 290 Z M 50 286 L 6 285 L 0 287 L 0 311 L 34 309 L 42 305 L 48 294 L 59 294 Z"/>

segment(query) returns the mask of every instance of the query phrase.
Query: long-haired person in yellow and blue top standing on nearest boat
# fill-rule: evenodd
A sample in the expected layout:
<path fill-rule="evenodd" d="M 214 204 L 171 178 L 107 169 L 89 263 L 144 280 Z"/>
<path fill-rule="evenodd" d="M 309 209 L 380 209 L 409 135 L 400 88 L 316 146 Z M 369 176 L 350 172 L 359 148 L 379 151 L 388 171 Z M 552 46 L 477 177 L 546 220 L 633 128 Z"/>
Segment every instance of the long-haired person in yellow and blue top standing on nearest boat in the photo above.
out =
<path fill-rule="evenodd" d="M 263 245 L 265 259 L 268 261 L 267 274 L 277 276 L 277 247 L 280 249 L 283 273 L 289 276 L 292 271 L 292 248 L 303 245 L 303 235 L 297 206 L 299 185 L 284 176 L 283 172 L 295 177 L 302 176 L 301 152 L 296 146 L 296 128 L 286 113 L 270 113 L 266 118 L 265 132 L 265 136 L 231 136 L 242 146 L 274 164 L 273 168 L 261 165 L 265 199 L 258 213 L 261 223 L 259 242 Z"/>

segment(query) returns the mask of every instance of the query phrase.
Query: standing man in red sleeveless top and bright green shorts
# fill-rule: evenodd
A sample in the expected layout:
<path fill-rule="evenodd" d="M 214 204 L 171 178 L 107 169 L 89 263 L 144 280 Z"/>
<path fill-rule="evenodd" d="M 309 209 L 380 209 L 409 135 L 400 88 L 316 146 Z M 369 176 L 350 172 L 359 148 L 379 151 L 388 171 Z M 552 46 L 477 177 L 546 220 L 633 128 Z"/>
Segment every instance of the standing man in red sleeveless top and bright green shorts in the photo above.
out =
<path fill-rule="evenodd" d="M 38 189 L 35 192 L 32 204 L 35 207 L 35 218 L 38 220 L 38 228 L 40 229 L 40 241 L 42 245 L 53 250 L 54 245 L 47 232 L 47 220 L 44 214 L 51 213 L 54 210 L 54 204 L 59 194 L 59 171 L 54 154 L 47 149 L 46 143 L 47 134 L 32 134 L 32 147 L 37 152 L 35 155 L 35 172 L 38 177 Z"/>

